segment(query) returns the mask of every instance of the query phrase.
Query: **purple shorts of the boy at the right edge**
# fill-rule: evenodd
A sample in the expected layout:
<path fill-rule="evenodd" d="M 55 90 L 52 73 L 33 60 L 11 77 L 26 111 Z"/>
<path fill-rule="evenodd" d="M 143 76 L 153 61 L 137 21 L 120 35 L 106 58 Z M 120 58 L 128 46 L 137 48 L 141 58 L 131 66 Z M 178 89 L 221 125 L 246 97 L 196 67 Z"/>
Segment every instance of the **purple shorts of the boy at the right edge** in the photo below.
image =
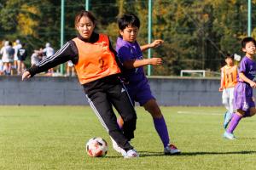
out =
<path fill-rule="evenodd" d="M 250 108 L 255 107 L 253 102 L 253 88 L 246 82 L 238 82 L 234 90 L 234 109 L 249 111 Z"/>

